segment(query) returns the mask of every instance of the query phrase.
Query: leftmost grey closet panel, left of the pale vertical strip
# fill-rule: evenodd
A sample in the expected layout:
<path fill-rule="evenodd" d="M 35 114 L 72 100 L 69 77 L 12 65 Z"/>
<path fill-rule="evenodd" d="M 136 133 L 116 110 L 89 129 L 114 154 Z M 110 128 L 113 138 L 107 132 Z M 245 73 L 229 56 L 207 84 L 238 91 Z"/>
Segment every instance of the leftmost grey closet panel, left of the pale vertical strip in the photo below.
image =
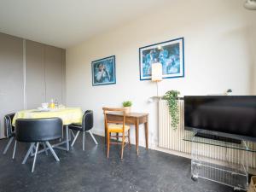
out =
<path fill-rule="evenodd" d="M 0 33 L 0 137 L 3 115 L 24 107 L 23 40 Z"/>

